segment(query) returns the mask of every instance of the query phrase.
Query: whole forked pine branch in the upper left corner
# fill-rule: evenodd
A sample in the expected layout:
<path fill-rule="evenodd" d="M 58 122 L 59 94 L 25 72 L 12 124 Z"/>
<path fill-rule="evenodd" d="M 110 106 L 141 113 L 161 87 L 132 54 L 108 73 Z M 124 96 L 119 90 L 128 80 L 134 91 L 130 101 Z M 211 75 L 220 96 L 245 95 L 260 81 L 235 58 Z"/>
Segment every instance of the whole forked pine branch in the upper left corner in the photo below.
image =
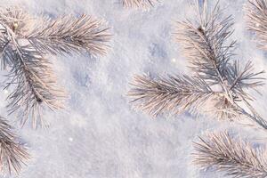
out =
<path fill-rule="evenodd" d="M 55 20 L 36 17 L 17 7 L 0 8 L 0 52 L 2 69 L 9 67 L 6 87 L 10 113 L 21 111 L 21 124 L 30 117 L 34 127 L 43 125 L 41 109 L 60 109 L 64 93 L 56 85 L 52 54 L 105 54 L 109 28 L 101 20 L 67 15 Z"/>

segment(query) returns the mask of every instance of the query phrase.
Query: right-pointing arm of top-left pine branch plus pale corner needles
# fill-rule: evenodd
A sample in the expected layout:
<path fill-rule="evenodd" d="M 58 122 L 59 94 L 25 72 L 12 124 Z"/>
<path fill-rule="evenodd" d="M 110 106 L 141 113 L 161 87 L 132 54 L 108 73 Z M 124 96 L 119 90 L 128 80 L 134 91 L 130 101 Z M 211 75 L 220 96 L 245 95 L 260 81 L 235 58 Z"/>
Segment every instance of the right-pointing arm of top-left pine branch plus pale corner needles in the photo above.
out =
<path fill-rule="evenodd" d="M 103 20 L 86 14 L 52 20 L 10 7 L 0 9 L 0 22 L 11 28 L 17 38 L 27 39 L 41 53 L 71 54 L 85 50 L 93 55 L 103 55 L 109 48 L 111 38 Z"/>

